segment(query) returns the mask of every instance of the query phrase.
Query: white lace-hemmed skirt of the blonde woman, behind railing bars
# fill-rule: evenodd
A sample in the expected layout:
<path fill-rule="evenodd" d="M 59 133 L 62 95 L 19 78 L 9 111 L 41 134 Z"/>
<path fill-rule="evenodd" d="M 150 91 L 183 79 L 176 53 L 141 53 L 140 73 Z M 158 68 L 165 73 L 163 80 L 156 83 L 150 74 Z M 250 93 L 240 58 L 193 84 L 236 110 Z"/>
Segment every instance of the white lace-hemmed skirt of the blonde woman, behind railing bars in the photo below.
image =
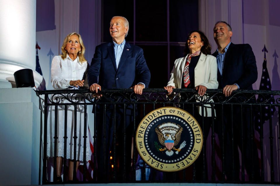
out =
<path fill-rule="evenodd" d="M 64 106 L 57 107 L 57 156 L 64 157 Z M 77 105 L 77 140 L 76 140 L 76 160 L 83 162 L 84 151 L 84 106 Z M 86 125 L 86 161 L 91 158 L 88 123 Z M 55 106 L 50 106 L 48 110 L 47 127 L 47 156 L 54 157 L 54 136 L 55 136 Z M 68 105 L 67 110 L 67 143 L 66 158 L 74 160 L 74 105 Z"/>

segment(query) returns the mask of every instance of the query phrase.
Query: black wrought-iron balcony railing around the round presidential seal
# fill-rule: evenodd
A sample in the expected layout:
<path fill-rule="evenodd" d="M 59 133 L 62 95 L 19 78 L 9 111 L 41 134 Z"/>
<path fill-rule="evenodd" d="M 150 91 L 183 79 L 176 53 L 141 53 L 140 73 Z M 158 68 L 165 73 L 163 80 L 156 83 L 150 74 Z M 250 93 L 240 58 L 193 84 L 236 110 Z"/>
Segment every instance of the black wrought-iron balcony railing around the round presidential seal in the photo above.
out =
<path fill-rule="evenodd" d="M 67 138 L 69 139 L 67 118 L 69 118 L 70 106 L 74 108 L 72 112 L 74 115 L 72 116 L 74 131 L 72 136 L 74 157 L 72 159 L 74 162 L 78 159 L 77 127 L 81 128 L 81 120 L 77 124 L 77 112 L 84 113 L 80 115 L 80 118 L 83 117 L 84 130 L 83 166 L 79 166 L 80 169 L 78 169 L 82 176 L 77 175 L 76 163 L 74 163 L 73 182 L 280 182 L 280 91 L 237 90 L 229 97 L 225 97 L 222 90 L 207 90 L 207 97 L 201 97 L 197 95 L 197 91 L 188 89 L 175 89 L 174 94 L 171 95 L 167 95 L 163 89 L 144 89 L 142 95 L 134 94 L 132 89 L 104 89 L 100 91 L 102 94 L 100 98 L 98 98 L 99 95 L 88 90 L 47 90 L 36 91 L 36 93 L 41 100 L 41 131 L 43 131 L 41 139 L 43 139 L 43 143 L 41 143 L 40 154 L 43 153 L 43 160 L 42 164 L 40 162 L 40 166 L 42 166 L 40 171 L 41 169 L 43 171 L 40 172 L 42 180 L 40 176 L 39 182 L 42 181 L 43 184 L 57 183 L 55 182 L 57 145 L 51 147 L 53 156 L 48 157 L 47 155 L 48 127 L 51 125 L 51 119 L 54 119 L 54 134 L 49 138 L 53 139 L 53 144 L 58 143 L 58 135 L 64 135 L 62 175 L 64 175 L 63 183 L 67 183 L 68 179 L 65 176 L 68 166 Z M 211 117 L 200 117 L 199 120 L 204 141 L 200 154 L 202 164 L 195 162 L 194 165 L 182 171 L 166 173 L 150 168 L 139 158 L 135 145 L 135 133 L 139 122 L 152 110 L 167 106 L 179 107 L 194 117 L 200 117 L 197 107 L 202 108 L 201 115 L 206 115 L 204 108 L 211 110 Z M 54 107 L 54 109 L 50 107 Z M 83 111 L 77 107 L 83 108 Z M 91 110 L 92 108 L 93 110 Z M 63 123 L 60 123 L 59 110 L 64 112 Z M 89 114 L 91 111 L 94 114 L 94 125 L 93 131 L 90 131 L 92 136 L 87 136 L 88 115 L 85 113 Z M 54 112 L 54 115 L 50 112 Z M 209 114 L 209 111 L 207 112 Z M 235 123 L 235 121 L 240 121 L 240 123 Z M 110 123 L 112 126 L 108 128 L 107 125 Z M 57 133 L 58 125 L 64 126 L 63 134 Z M 82 131 L 80 132 L 82 133 Z M 237 133 L 239 137 L 237 137 Z M 89 137 L 93 139 L 94 150 L 91 160 L 87 161 L 86 142 Z M 111 147 L 108 145 L 110 142 Z M 129 146 L 133 147 L 130 149 L 132 155 L 127 149 Z M 237 146 L 241 152 L 239 154 L 234 152 Z M 255 147 L 257 151 L 254 150 Z M 228 151 L 233 153 L 230 159 L 227 159 Z M 241 157 L 241 163 L 237 162 L 239 160 L 237 155 Z M 252 157 L 250 163 L 248 163 L 248 155 Z M 258 157 L 257 162 L 253 157 Z M 227 169 L 229 165 L 234 167 L 239 164 L 241 171 L 239 168 L 238 172 L 234 168 L 230 171 Z M 50 175 L 52 168 L 53 173 Z"/>

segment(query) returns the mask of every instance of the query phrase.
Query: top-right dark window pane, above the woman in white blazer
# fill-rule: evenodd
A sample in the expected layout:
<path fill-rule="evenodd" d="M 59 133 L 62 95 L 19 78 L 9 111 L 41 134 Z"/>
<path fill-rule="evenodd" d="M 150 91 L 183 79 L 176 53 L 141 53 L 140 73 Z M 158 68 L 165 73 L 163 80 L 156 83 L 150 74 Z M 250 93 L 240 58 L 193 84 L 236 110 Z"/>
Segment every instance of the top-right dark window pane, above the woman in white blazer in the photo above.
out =
<path fill-rule="evenodd" d="M 198 1 L 169 1 L 170 41 L 186 42 L 188 33 L 198 30 Z"/>

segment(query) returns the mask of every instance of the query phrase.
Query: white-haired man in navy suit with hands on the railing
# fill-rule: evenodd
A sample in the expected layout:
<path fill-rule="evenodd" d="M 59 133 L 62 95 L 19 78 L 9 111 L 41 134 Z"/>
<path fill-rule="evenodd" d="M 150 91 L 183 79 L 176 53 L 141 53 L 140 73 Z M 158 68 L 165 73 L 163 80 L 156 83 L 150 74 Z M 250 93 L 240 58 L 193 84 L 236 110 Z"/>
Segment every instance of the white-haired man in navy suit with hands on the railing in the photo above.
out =
<path fill-rule="evenodd" d="M 126 42 L 125 37 L 128 30 L 129 23 L 125 17 L 115 16 L 111 19 L 109 31 L 113 42 L 100 44 L 95 49 L 95 54 L 88 70 L 90 91 L 97 93 L 101 88 L 133 88 L 135 94 L 142 94 L 143 89 L 149 85 L 150 71 L 147 67 L 143 50 Z M 117 159 L 119 158 L 120 161 L 120 171 L 118 173 L 122 176 L 127 176 L 131 164 L 133 107 L 132 105 L 126 105 L 124 110 L 123 105 L 117 104 L 115 108 L 115 133 L 119 142 L 116 151 L 118 151 Z M 104 109 L 106 109 L 106 113 L 103 112 Z M 96 142 L 98 175 L 104 179 L 108 179 L 109 153 L 113 150 L 111 148 L 114 135 L 113 112 L 113 105 L 106 105 L 106 108 L 104 108 L 104 105 L 100 105 L 95 116 L 97 119 L 97 140 L 99 140 Z M 124 112 L 125 118 L 123 117 Z M 102 117 L 103 114 L 106 116 L 106 121 Z M 123 127 L 124 123 L 125 129 Z M 106 133 L 103 133 L 104 127 Z M 125 138 L 123 137 L 124 131 Z M 104 136 L 106 136 L 105 143 Z M 126 146 L 123 146 L 124 143 Z M 104 149 L 104 147 L 106 148 Z M 123 160 L 124 157 L 125 161 Z M 126 168 L 126 174 L 123 173 L 124 167 Z"/>

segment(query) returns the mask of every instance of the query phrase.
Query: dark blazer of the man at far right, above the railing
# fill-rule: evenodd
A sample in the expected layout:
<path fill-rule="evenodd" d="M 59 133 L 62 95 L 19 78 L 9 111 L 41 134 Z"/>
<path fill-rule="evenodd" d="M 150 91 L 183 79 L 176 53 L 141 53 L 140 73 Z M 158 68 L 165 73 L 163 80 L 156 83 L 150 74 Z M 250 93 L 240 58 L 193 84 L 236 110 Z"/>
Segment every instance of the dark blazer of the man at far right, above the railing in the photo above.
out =
<path fill-rule="evenodd" d="M 217 57 L 218 51 L 212 54 Z M 255 55 L 249 44 L 231 43 L 225 55 L 223 75 L 218 70 L 218 89 L 223 89 L 225 85 L 236 83 L 240 89 L 253 90 L 252 84 L 257 81 L 258 71 Z"/>

